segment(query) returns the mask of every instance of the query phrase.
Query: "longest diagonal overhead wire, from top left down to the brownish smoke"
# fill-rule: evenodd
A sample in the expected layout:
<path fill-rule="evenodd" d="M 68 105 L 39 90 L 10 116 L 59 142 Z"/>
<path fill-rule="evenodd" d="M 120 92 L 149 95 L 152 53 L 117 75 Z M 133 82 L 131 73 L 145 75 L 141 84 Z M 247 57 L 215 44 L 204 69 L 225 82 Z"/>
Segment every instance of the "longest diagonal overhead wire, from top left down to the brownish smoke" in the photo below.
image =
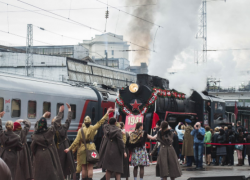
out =
<path fill-rule="evenodd" d="M 35 7 L 35 8 L 37 8 L 37 9 L 43 10 L 43 11 L 48 12 L 48 13 L 50 13 L 50 14 L 53 14 L 53 15 L 55 15 L 55 16 L 61 17 L 61 18 L 63 18 L 63 19 L 67 19 L 67 20 L 69 20 L 69 21 L 72 21 L 72 22 L 74 22 L 74 23 L 76 23 L 76 24 L 79 24 L 79 25 L 82 25 L 82 26 L 84 26 L 84 27 L 91 28 L 91 29 L 93 29 L 93 30 L 95 30 L 95 31 L 98 31 L 98 32 L 103 33 L 102 30 L 99 30 L 99 29 L 97 29 L 97 28 L 93 28 L 93 27 L 88 26 L 88 25 L 86 25 L 86 24 L 83 24 L 83 23 L 80 23 L 80 22 L 78 22 L 78 21 L 72 20 L 72 19 L 70 19 L 70 18 L 64 17 L 64 16 L 62 16 L 62 15 L 59 15 L 59 14 L 50 12 L 50 11 L 48 11 L 48 10 L 46 10 L 46 9 L 37 7 L 37 6 L 35 6 L 35 5 L 26 3 L 26 2 L 21 1 L 21 0 L 17 0 L 17 1 L 19 1 L 19 2 L 21 2 L 21 3 L 23 3 L 23 4 L 26 4 L 26 5 L 28 5 L 28 6 L 32 6 L 32 7 Z M 108 36 L 111 36 L 111 37 L 114 37 L 114 38 L 116 38 L 116 39 L 119 39 L 119 40 L 123 40 L 123 39 L 120 39 L 120 38 L 116 37 L 115 35 L 111 35 L 111 34 L 109 34 L 109 33 L 107 33 L 107 35 L 108 35 Z M 131 41 L 128 41 L 128 42 L 129 42 L 130 44 L 133 44 L 133 45 L 138 46 L 138 47 L 140 47 L 140 48 L 147 49 L 148 51 L 152 51 L 152 50 L 149 49 L 149 48 L 143 47 L 143 46 L 138 45 L 138 44 L 136 44 L 136 43 L 133 43 L 133 42 L 131 42 Z M 154 51 L 152 51 L 152 52 L 154 52 Z"/>

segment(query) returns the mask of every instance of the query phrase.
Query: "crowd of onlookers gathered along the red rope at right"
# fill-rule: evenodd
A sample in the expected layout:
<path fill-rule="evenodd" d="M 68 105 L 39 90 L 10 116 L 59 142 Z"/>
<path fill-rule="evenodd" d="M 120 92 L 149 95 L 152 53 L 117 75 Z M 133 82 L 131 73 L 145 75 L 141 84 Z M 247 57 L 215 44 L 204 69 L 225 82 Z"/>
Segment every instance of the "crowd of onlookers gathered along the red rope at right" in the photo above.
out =
<path fill-rule="evenodd" d="M 238 163 L 244 165 L 244 159 L 248 155 L 250 165 L 250 135 L 238 121 L 228 126 L 218 126 L 211 129 L 209 126 L 201 127 L 197 122 L 191 126 L 191 120 L 186 119 L 185 124 L 179 123 L 175 127 L 175 133 L 179 141 L 178 158 L 180 165 L 192 167 L 194 163 L 197 170 L 203 169 L 203 155 L 205 164 L 210 166 L 233 166 L 234 152 L 237 152 Z M 238 143 L 238 144 L 237 144 Z"/>

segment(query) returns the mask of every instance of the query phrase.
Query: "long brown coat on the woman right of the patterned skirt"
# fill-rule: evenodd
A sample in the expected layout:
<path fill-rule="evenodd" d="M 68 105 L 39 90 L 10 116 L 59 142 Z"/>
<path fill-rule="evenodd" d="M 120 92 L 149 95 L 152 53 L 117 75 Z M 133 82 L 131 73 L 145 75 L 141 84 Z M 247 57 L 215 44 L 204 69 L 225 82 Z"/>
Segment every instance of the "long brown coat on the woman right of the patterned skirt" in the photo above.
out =
<path fill-rule="evenodd" d="M 173 156 L 175 150 L 172 146 L 174 134 L 167 130 L 162 136 L 161 131 L 158 132 L 157 141 L 160 142 L 160 151 L 157 157 L 156 176 L 157 177 L 180 177 L 182 175 L 178 158 Z M 158 148 L 154 148 L 151 154 L 154 154 Z"/>

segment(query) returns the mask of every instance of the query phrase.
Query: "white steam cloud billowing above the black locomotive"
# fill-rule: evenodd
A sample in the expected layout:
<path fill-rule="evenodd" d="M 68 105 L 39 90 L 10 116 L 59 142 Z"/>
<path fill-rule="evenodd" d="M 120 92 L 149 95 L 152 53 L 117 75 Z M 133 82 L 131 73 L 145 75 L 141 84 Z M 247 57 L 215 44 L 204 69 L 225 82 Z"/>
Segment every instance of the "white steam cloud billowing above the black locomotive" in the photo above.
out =
<path fill-rule="evenodd" d="M 194 50 L 201 50 L 202 44 L 195 38 L 198 31 L 198 11 L 201 0 L 169 0 L 159 1 L 159 3 L 158 9 L 160 12 L 159 16 L 156 17 L 158 21 L 156 23 L 161 24 L 164 28 L 157 34 L 157 53 L 151 53 L 149 74 L 169 79 L 170 88 L 187 95 L 191 94 L 192 89 L 205 90 L 207 77 L 220 79 L 220 86 L 224 88 L 237 87 L 241 81 L 246 82 L 250 79 L 249 74 L 242 71 L 250 65 L 246 58 L 247 52 L 210 52 L 208 53 L 207 63 L 194 64 Z M 225 6 L 225 4 L 223 5 Z M 234 7 L 235 5 L 232 4 L 231 6 Z M 243 7 L 245 6 L 243 5 Z M 239 6 L 237 9 L 243 7 Z M 235 11 L 235 9 L 232 9 L 232 11 Z M 229 15 L 220 17 L 222 22 L 232 16 L 231 13 L 226 14 Z M 211 16 L 212 14 L 209 17 Z M 234 27 L 234 23 L 229 23 L 228 26 Z M 218 25 L 216 24 L 213 27 L 217 28 Z M 216 29 L 213 32 L 216 32 Z M 244 36 L 233 38 L 232 32 L 229 32 L 229 35 L 231 35 L 230 38 L 220 40 L 220 43 L 218 43 L 219 49 L 223 49 L 222 44 L 229 44 L 229 46 L 240 44 L 242 46 Z M 218 42 L 218 35 L 213 37 L 210 37 L 209 40 L 214 45 L 215 42 Z M 249 46 L 249 43 L 245 44 L 245 46 Z M 169 72 L 177 73 L 170 75 Z"/>

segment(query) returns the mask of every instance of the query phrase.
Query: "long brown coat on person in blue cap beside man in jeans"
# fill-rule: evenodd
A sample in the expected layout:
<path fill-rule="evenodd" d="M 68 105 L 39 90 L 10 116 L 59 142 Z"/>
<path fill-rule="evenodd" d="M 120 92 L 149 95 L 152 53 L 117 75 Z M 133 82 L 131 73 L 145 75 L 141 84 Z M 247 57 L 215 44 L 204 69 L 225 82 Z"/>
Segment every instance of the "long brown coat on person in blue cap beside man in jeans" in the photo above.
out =
<path fill-rule="evenodd" d="M 184 139 L 182 144 L 182 155 L 194 156 L 194 136 L 191 135 L 193 127 L 191 125 L 185 128 Z"/>

